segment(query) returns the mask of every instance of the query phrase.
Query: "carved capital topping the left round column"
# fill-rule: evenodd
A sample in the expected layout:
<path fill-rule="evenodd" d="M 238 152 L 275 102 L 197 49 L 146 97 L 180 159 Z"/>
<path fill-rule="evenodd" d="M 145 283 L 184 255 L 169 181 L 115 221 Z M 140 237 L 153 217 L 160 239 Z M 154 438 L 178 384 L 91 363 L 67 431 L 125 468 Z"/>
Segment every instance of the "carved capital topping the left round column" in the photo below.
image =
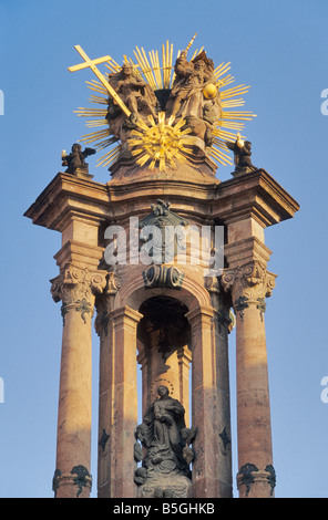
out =
<path fill-rule="evenodd" d="M 93 315 L 94 294 L 103 292 L 106 287 L 106 271 L 89 271 L 69 263 L 59 277 L 51 280 L 51 294 L 55 302 L 62 301 L 63 324 L 70 310 Z"/>

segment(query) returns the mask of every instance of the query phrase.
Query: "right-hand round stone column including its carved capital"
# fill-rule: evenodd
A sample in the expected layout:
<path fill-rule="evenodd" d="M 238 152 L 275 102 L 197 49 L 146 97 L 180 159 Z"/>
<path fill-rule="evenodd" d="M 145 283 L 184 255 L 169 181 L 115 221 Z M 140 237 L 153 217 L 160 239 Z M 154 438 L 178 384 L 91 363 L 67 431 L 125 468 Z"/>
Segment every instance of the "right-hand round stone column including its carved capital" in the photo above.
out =
<path fill-rule="evenodd" d="M 227 269 L 222 285 L 236 313 L 239 497 L 274 496 L 269 386 L 264 313 L 276 274 L 258 261 Z"/>

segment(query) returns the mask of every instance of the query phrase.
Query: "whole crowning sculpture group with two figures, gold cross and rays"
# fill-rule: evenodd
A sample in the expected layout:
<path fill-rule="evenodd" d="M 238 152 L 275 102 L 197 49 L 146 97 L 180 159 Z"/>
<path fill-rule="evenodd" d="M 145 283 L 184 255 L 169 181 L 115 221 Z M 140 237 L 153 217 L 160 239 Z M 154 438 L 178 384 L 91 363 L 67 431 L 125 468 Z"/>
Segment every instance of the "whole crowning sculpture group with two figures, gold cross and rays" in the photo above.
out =
<path fill-rule="evenodd" d="M 195 37 L 175 60 L 173 44 L 166 41 L 160 53 L 136 46 L 134 58 L 124 55 L 122 65 L 110 55 L 91 60 L 75 45 L 84 62 L 69 71 L 92 70 L 96 79 L 86 83 L 93 91 L 90 101 L 99 105 L 75 111 L 93 127 L 80 142 L 96 150 L 110 147 L 98 165 L 111 169 L 119 158 L 127 158 L 164 171 L 199 155 L 233 164 L 227 143 L 236 143 L 236 131 L 255 117 L 238 108 L 249 86 L 232 86 L 229 63 L 215 66 L 203 46 L 189 54 Z"/>

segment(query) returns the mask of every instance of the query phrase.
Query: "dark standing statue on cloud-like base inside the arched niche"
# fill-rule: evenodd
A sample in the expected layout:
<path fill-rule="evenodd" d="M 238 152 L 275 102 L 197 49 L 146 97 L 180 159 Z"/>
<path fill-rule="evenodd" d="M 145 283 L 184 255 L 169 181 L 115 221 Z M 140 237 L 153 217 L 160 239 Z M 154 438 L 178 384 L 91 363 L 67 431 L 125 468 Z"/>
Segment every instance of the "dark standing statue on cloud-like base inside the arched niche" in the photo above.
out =
<path fill-rule="evenodd" d="M 134 458 L 142 465 L 134 481 L 145 498 L 188 497 L 194 459 L 189 445 L 197 429 L 186 428 L 185 409 L 168 395 L 167 386 L 158 386 L 157 395 L 135 431 Z"/>

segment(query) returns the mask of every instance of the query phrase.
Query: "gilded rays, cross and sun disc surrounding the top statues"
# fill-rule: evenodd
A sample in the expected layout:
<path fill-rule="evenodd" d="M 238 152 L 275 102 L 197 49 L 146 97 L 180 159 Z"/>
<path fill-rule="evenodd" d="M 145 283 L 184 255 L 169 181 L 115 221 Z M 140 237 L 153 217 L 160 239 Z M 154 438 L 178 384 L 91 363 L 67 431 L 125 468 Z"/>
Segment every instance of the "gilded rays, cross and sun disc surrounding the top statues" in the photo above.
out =
<path fill-rule="evenodd" d="M 194 39 L 195 37 L 185 51 L 191 48 Z M 98 80 L 86 82 L 86 84 L 90 90 L 95 92 L 91 95 L 90 102 L 100 105 L 98 108 L 80 107 L 75 111 L 79 116 L 88 117 L 86 127 L 93 128 L 93 132 L 83 135 L 80 142 L 85 145 L 92 144 L 98 150 L 110 147 L 111 149 L 98 159 L 98 166 L 111 167 L 122 150 L 122 143 L 117 142 L 117 138 L 111 134 L 107 119 L 109 92 L 113 96 L 113 89 L 110 91 L 106 76 L 96 69 L 95 64 L 105 63 L 110 74 L 117 74 L 122 67 L 111 56 L 90 61 L 85 54 L 82 54 L 81 48 L 78 49 L 76 46 L 76 50 L 86 63 L 85 65 L 75 65 L 69 70 L 73 72 L 79 70 L 79 66 L 90 66 L 93 70 Z M 189 61 L 193 61 L 202 52 L 204 52 L 203 48 L 196 49 Z M 133 66 L 134 74 L 143 79 L 155 93 L 172 89 L 175 81 L 172 43 L 167 41 L 163 44 L 162 53 L 154 50 L 146 53 L 143 48 L 136 46 L 133 55 L 134 58 L 124 55 L 124 63 L 130 63 Z M 176 59 L 180 55 L 181 51 L 177 52 Z M 240 136 L 245 122 L 255 117 L 252 112 L 238 110 L 245 104 L 243 95 L 248 92 L 249 85 L 232 86 L 235 80 L 229 74 L 229 70 L 230 63 L 221 63 L 215 67 L 213 72 L 215 83 L 203 92 L 206 98 L 219 94 L 221 114 L 215 128 L 212 131 L 213 141 L 212 145 L 206 147 L 206 154 L 216 163 L 223 165 L 233 164 L 226 142 L 235 142 L 237 136 L 245 138 L 245 136 Z M 120 102 L 125 116 L 129 117 L 131 111 L 120 98 L 116 104 L 117 102 Z M 160 167 L 160 170 L 163 170 L 166 164 L 174 167 L 176 163 L 183 163 L 188 157 L 189 148 L 187 145 L 191 144 L 192 139 L 189 134 L 191 131 L 183 118 L 176 119 L 174 116 L 166 118 L 163 111 L 158 112 L 157 121 L 153 116 L 148 116 L 146 121 L 140 118 L 135 122 L 134 129 L 132 129 L 127 139 L 127 147 L 139 165 L 148 163 L 151 169 L 156 166 Z"/>

